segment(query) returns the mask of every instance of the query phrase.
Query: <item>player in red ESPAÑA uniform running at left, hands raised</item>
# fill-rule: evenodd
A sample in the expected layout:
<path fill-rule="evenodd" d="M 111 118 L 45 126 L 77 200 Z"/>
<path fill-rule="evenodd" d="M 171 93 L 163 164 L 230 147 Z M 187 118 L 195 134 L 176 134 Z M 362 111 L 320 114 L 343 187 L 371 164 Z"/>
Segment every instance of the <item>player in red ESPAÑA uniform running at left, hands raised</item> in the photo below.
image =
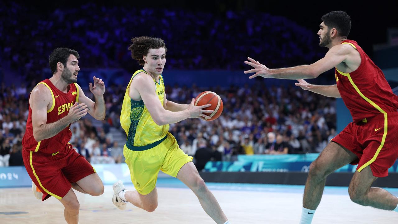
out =
<path fill-rule="evenodd" d="M 54 196 L 64 205 L 67 223 L 78 223 L 79 202 L 71 187 L 99 196 L 103 184 L 88 161 L 68 143 L 69 126 L 90 113 L 105 118 L 105 85 L 93 77 L 90 91 L 96 102 L 84 95 L 76 83 L 79 54 L 57 48 L 49 57 L 53 77 L 37 84 L 29 96 L 29 116 L 23 136 L 23 163 L 33 183 L 43 193 L 42 201 Z"/>

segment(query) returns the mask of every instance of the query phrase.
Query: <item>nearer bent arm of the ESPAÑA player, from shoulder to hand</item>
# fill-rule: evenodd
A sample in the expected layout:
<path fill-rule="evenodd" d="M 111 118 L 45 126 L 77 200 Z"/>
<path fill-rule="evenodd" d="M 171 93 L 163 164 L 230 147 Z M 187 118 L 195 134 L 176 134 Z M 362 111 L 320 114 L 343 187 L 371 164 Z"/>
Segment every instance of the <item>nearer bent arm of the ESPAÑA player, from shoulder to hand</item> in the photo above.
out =
<path fill-rule="evenodd" d="M 79 120 L 87 114 L 87 106 L 85 104 L 73 104 L 69 109 L 68 115 L 60 120 L 46 124 L 47 107 L 53 104 L 50 90 L 43 84 L 38 84 L 33 90 L 29 98 L 29 105 L 32 109 L 32 128 L 33 138 L 41 141 L 51 138 L 66 128 L 70 123 Z"/>

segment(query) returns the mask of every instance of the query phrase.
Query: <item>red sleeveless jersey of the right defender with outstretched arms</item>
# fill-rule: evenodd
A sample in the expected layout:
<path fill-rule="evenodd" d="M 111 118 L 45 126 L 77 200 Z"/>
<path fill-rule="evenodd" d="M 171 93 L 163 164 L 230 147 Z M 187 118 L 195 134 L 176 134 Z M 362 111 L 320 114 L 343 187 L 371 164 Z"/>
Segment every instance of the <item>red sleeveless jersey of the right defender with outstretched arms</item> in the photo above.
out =
<path fill-rule="evenodd" d="M 353 46 L 361 55 L 357 70 L 343 73 L 335 68 L 337 88 L 354 122 L 380 113 L 396 112 L 398 96 L 392 92 L 383 72 L 356 41 L 345 40 L 341 44 Z"/>

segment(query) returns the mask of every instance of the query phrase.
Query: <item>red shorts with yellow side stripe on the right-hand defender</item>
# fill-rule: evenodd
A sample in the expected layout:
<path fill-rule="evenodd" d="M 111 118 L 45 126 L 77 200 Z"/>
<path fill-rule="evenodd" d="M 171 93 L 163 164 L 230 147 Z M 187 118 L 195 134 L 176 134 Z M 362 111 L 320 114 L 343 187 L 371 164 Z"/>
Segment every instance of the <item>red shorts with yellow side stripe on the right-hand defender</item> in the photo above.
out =
<path fill-rule="evenodd" d="M 398 112 L 391 112 L 351 122 L 332 141 L 357 155 L 351 164 L 358 172 L 370 166 L 373 176 L 386 177 L 398 157 L 397 134 Z"/>

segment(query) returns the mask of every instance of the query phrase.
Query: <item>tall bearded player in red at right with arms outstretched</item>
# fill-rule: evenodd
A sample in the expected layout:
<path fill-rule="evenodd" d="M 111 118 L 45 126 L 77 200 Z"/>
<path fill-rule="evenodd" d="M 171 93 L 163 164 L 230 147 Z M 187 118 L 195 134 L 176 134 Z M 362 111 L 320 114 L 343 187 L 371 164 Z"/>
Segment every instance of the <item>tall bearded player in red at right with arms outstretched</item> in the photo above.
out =
<path fill-rule="evenodd" d="M 353 122 L 332 139 L 310 166 L 300 224 L 312 222 L 326 176 L 348 163 L 358 164 L 348 188 L 353 202 L 398 212 L 396 196 L 371 187 L 378 177 L 388 175 L 388 168 L 398 157 L 398 97 L 357 42 L 347 39 L 351 18 L 345 12 L 334 11 L 322 16 L 319 27 L 319 45 L 328 47 L 329 51 L 311 65 L 269 69 L 254 59 L 245 61 L 254 67 L 244 72 L 255 73 L 250 79 L 257 76 L 298 79 L 296 85 L 304 90 L 343 98 L 353 117 Z M 332 68 L 335 68 L 335 85 L 312 85 L 302 80 L 316 78 Z"/>

